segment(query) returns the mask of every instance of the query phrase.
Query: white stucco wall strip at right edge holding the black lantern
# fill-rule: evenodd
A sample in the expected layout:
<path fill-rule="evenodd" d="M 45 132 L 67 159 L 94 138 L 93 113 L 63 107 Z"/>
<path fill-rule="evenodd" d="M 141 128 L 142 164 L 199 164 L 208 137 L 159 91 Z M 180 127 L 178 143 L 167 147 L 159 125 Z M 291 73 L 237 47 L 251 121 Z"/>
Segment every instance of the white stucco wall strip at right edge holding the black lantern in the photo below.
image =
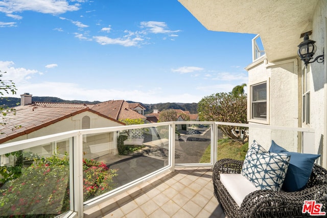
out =
<path fill-rule="evenodd" d="M 312 35 L 310 39 L 316 41 L 315 56 L 322 55 L 327 49 L 327 1 L 319 1 L 312 17 Z M 325 55 L 326 56 L 326 55 Z M 314 150 L 321 154 L 319 163 L 327 167 L 327 64 L 312 63 L 311 67 L 311 116 L 310 128 L 315 130 Z"/>

